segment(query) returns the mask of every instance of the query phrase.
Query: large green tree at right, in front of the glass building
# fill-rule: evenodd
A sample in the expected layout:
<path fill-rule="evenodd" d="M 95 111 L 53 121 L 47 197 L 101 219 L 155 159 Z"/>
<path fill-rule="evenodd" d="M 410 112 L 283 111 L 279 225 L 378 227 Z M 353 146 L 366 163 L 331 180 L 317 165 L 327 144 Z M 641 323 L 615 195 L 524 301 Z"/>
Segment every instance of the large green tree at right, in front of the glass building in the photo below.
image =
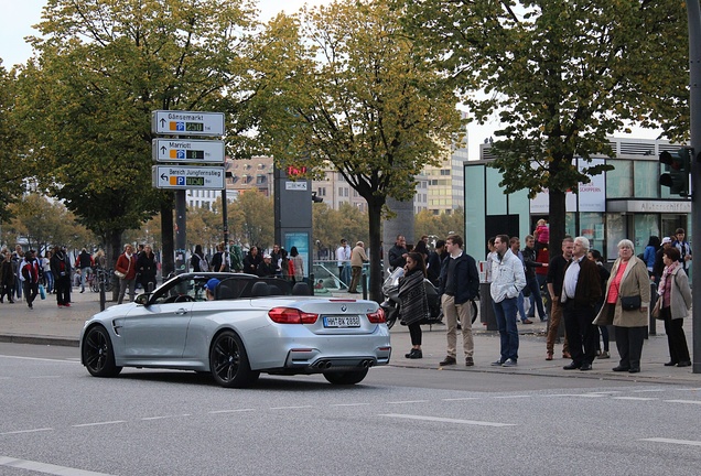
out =
<path fill-rule="evenodd" d="M 607 137 L 637 123 L 688 134 L 687 14 L 676 0 L 398 0 L 417 41 L 477 121 L 497 112 L 494 166 L 507 193 L 548 190 L 550 237 L 565 192 L 606 167 Z"/>

